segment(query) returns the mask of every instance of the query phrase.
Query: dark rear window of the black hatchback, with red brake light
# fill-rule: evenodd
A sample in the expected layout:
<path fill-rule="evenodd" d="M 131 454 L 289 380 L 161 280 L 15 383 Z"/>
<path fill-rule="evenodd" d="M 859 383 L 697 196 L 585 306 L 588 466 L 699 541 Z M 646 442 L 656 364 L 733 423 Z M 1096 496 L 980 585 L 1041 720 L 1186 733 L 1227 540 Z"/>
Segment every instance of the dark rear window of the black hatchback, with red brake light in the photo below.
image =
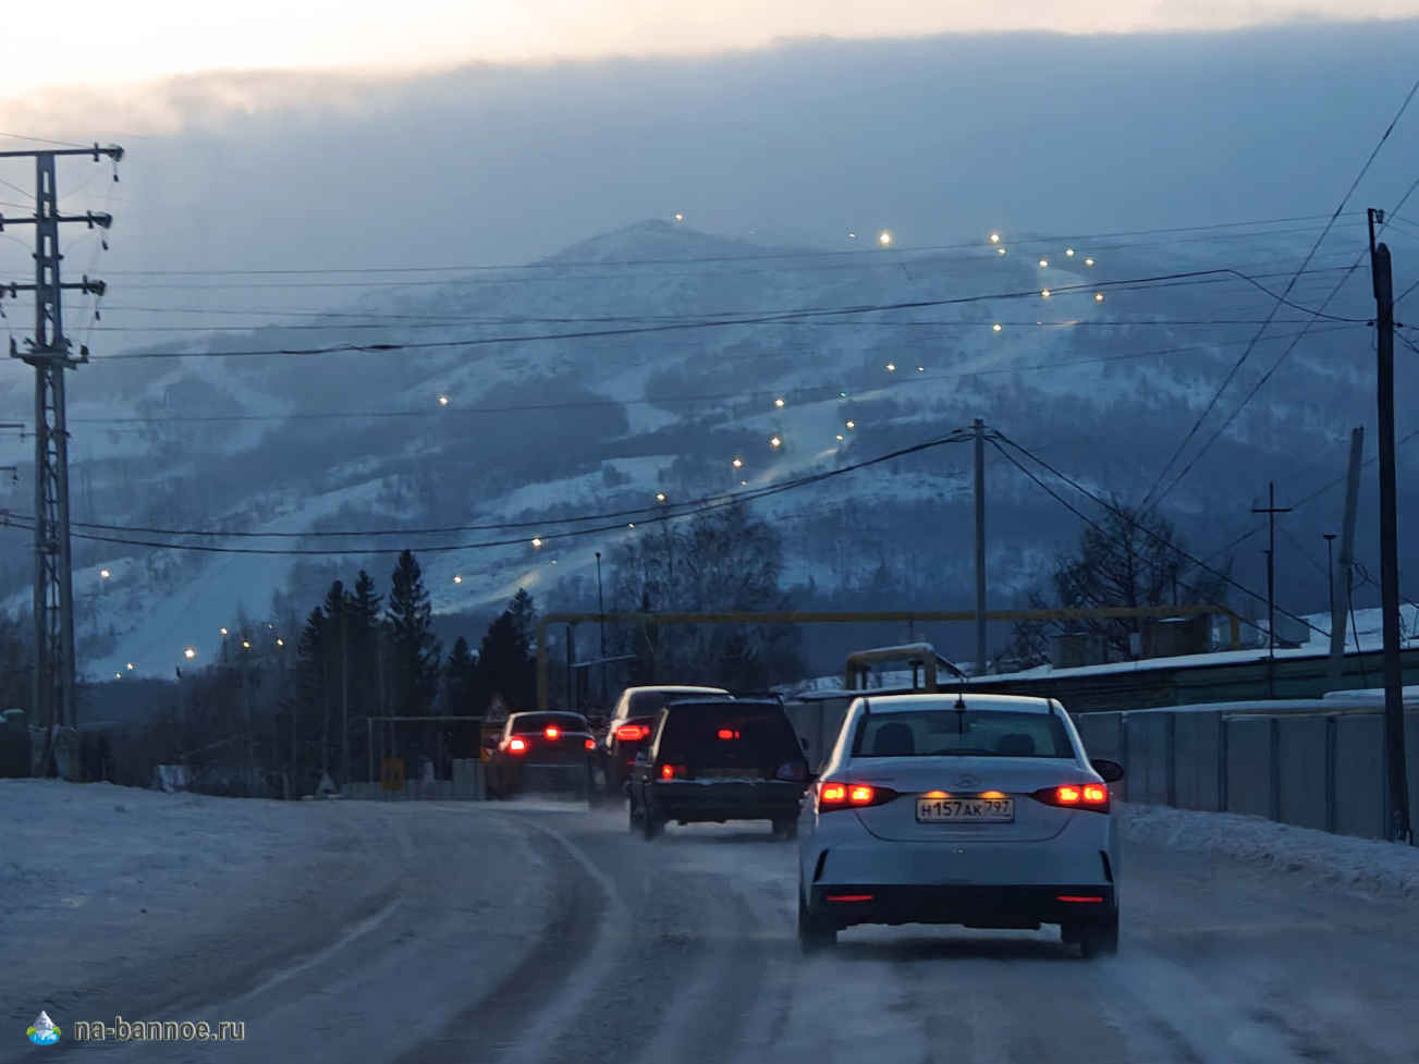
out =
<path fill-rule="evenodd" d="M 776 705 L 671 706 L 660 735 L 660 759 L 677 765 L 776 767 L 802 758 L 797 733 Z"/>

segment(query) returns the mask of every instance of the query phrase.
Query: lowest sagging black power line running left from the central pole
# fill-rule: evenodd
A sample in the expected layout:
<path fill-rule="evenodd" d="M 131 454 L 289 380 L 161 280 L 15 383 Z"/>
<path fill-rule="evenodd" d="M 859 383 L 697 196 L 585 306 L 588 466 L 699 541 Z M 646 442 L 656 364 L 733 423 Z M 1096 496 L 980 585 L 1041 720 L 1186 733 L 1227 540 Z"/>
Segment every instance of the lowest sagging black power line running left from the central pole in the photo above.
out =
<path fill-rule="evenodd" d="M 651 516 L 644 518 L 641 521 L 641 523 L 644 523 L 644 525 L 661 523 L 661 522 L 666 522 L 666 521 L 675 521 L 675 519 L 680 519 L 680 518 L 694 516 L 697 514 L 705 514 L 705 512 L 711 512 L 711 511 L 715 511 L 715 509 L 722 509 L 724 506 L 734 506 L 734 505 L 741 505 L 741 504 L 745 504 L 745 502 L 755 502 L 758 499 L 769 498 L 771 495 L 779 495 L 779 494 L 783 494 L 786 491 L 796 491 L 797 488 L 809 487 L 812 484 L 819 484 L 822 481 L 832 480 L 832 478 L 836 478 L 836 477 L 843 477 L 846 474 L 856 472 L 858 470 L 864 470 L 864 468 L 868 468 L 868 467 L 873 467 L 873 465 L 880 465 L 881 462 L 893 461 L 894 458 L 901 458 L 901 457 L 905 457 L 905 455 L 910 455 L 910 454 L 917 454 L 920 451 L 925 451 L 925 450 L 929 450 L 932 447 L 941 447 L 942 444 L 948 444 L 948 443 L 959 443 L 962 438 L 964 437 L 961 434 L 952 433 L 952 434 L 948 434 L 948 436 L 944 436 L 944 437 L 937 437 L 934 440 L 928 440 L 925 443 L 912 444 L 911 447 L 901 447 L 901 448 L 898 448 L 895 451 L 890 451 L 890 453 L 878 455 L 876 458 L 867 458 L 864 461 L 853 462 L 851 465 L 843 465 L 843 467 L 839 467 L 836 470 L 827 470 L 827 471 L 823 471 L 823 472 L 810 474 L 810 475 L 806 475 L 806 477 L 799 477 L 799 478 L 795 478 L 795 480 L 790 480 L 790 481 L 785 481 L 785 482 L 780 482 L 780 484 L 766 485 L 763 488 L 753 488 L 753 489 L 746 491 L 746 492 L 721 494 L 721 495 L 717 495 L 717 497 L 708 497 L 705 499 L 697 499 L 695 505 L 688 505 L 687 504 L 684 508 L 674 509 L 673 512 L 656 514 L 654 512 L 657 509 L 656 506 L 646 506 L 646 508 L 639 508 L 639 509 L 634 509 L 634 511 L 620 511 L 620 512 L 604 514 L 604 515 L 585 515 L 585 516 L 580 516 L 580 518 L 546 519 L 546 521 L 541 521 L 541 522 L 509 522 L 508 525 L 487 525 L 487 526 L 482 526 L 482 528 L 485 528 L 485 529 L 494 529 L 494 528 L 535 528 L 535 526 L 542 526 L 542 525 L 549 525 L 549 523 L 566 523 L 566 522 L 572 522 L 572 521 L 609 519 L 612 516 L 629 516 L 629 515 L 633 515 L 633 514 L 647 514 L 647 512 L 651 514 Z M 13 528 L 33 531 L 33 525 L 27 525 L 26 523 L 26 522 L 31 522 L 31 521 L 33 521 L 33 518 L 30 518 L 30 516 L 27 516 L 24 514 L 10 514 L 10 515 L 6 515 L 4 523 L 10 525 Z M 91 525 L 85 525 L 85 528 L 92 528 L 92 526 Z M 125 529 L 123 526 L 102 526 L 102 528 L 109 528 L 112 531 L 135 531 L 135 532 L 139 531 L 139 529 Z M 464 526 L 464 529 L 467 529 L 467 528 L 471 528 L 471 526 Z M 538 541 L 541 541 L 541 542 L 551 542 L 551 541 L 559 541 L 559 539 L 573 539 L 573 538 L 580 538 L 580 536 L 587 536 L 587 535 L 597 535 L 597 533 L 602 533 L 602 532 L 620 532 L 620 531 L 624 531 L 624 528 L 626 528 L 624 523 L 620 522 L 620 521 L 617 521 L 614 525 L 602 525 L 602 526 L 597 526 L 597 528 L 569 529 L 569 531 L 565 531 L 565 532 L 549 532 L 546 535 L 538 536 Z M 404 533 L 404 535 L 420 535 L 419 529 L 394 529 L 392 532 L 380 532 L 377 535 L 397 535 L 400 532 Z M 424 533 L 431 533 L 431 532 L 433 532 L 433 529 L 424 531 Z M 162 549 L 169 549 L 169 550 L 199 550 L 199 552 L 204 552 L 204 553 L 231 553 L 231 555 L 280 555 L 280 556 L 297 556 L 297 555 L 389 555 L 389 553 L 400 553 L 404 549 L 404 548 L 339 548 L 339 549 L 234 548 L 234 546 L 209 546 L 209 545 L 187 545 L 187 543 L 163 543 L 163 542 L 156 542 L 156 541 L 128 539 L 128 538 L 123 538 L 123 536 L 96 535 L 96 533 L 88 533 L 88 532 L 82 532 L 82 533 L 81 532 L 75 532 L 72 535 L 74 535 L 75 539 L 88 539 L 88 541 L 95 541 L 95 542 L 101 542 L 101 543 L 122 543 L 122 545 L 126 545 L 126 546 L 149 546 L 149 548 L 162 548 Z M 182 535 L 213 535 L 213 533 L 210 533 L 210 532 L 186 532 L 186 533 L 182 533 Z M 219 535 L 230 538 L 230 536 L 260 535 L 260 533 L 219 533 Z M 372 535 L 372 533 L 366 532 L 366 533 L 358 533 L 358 535 Z M 480 550 L 480 549 L 487 549 L 487 548 L 526 546 L 526 545 L 528 545 L 528 539 L 525 536 L 519 536 L 518 539 L 485 541 L 485 542 L 480 542 L 480 543 L 444 543 L 444 545 L 434 545 L 434 546 L 420 546 L 419 550 L 421 550 L 424 553 L 444 553 L 444 552 L 453 552 L 453 550 Z"/>

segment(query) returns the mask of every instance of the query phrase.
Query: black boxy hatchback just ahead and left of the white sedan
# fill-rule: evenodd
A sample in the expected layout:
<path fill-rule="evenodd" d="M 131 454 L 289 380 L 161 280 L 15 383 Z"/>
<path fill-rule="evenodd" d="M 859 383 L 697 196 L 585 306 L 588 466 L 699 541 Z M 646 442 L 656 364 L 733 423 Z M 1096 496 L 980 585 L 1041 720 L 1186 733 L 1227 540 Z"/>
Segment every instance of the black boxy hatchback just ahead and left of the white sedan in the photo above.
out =
<path fill-rule="evenodd" d="M 768 820 L 773 834 L 792 838 L 809 779 L 780 702 L 677 699 L 636 756 L 630 829 L 654 838 L 670 821 Z"/>

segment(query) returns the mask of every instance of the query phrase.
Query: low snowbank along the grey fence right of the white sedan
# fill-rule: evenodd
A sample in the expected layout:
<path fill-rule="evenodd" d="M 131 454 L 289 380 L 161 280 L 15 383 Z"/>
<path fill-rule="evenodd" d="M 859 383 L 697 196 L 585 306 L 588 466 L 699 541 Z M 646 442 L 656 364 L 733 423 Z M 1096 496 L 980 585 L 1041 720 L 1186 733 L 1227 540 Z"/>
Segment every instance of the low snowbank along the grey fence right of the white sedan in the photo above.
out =
<path fill-rule="evenodd" d="M 1385 898 L 1419 898 L 1419 847 L 1337 836 L 1237 813 L 1198 813 L 1120 802 L 1125 843 L 1210 853 L 1293 875 L 1304 885 Z"/>

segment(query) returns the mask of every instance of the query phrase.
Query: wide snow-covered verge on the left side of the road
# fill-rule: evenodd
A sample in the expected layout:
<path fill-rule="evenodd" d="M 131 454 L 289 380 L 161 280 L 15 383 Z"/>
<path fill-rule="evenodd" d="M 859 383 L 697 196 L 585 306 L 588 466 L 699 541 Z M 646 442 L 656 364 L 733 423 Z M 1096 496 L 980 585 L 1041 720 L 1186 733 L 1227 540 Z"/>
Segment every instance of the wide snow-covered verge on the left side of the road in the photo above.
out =
<path fill-rule="evenodd" d="M 210 1010 L 350 956 L 429 968 L 416 935 L 446 916 L 507 928 L 481 965 L 495 979 L 545 921 L 536 854 L 502 819 L 416 804 L 0 779 L 0 1024 Z"/>

